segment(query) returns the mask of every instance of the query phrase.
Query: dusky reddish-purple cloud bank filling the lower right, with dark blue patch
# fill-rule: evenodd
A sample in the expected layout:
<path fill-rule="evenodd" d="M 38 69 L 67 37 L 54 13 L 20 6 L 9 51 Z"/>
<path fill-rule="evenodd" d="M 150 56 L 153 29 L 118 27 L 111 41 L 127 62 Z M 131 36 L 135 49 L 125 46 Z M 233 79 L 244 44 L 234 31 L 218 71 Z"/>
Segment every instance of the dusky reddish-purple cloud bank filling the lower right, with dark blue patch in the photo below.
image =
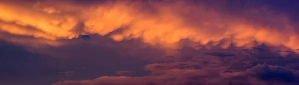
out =
<path fill-rule="evenodd" d="M 189 47 L 185 47 L 186 49 Z M 60 81 L 53 85 L 296 85 L 299 84 L 298 70 L 294 68 L 296 54 L 280 56 L 274 48 L 258 46 L 249 50 L 215 49 L 196 50 L 192 62 L 156 63 L 145 66 L 151 73 L 141 77 L 102 76 L 94 80 Z M 194 50 L 194 49 L 192 49 Z M 235 50 L 235 51 L 229 51 Z M 181 50 L 184 51 L 184 50 Z M 203 52 L 202 52 L 203 51 Z M 190 50 L 188 51 L 190 52 Z M 221 57 L 218 53 L 234 56 Z M 206 53 L 216 53 L 209 55 Z M 250 55 L 252 57 L 250 57 Z M 275 56 L 279 57 L 275 57 Z M 181 55 L 184 57 L 188 55 Z M 175 58 L 175 57 L 172 57 Z M 298 66 L 298 65 L 295 65 Z"/>

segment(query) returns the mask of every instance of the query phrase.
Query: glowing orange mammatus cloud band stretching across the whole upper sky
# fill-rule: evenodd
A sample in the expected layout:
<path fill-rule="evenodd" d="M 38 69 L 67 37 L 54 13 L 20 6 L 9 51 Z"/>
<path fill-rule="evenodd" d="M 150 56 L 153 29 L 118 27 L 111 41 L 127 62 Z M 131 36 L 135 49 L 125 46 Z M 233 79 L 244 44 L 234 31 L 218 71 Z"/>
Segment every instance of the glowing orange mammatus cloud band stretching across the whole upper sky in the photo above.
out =
<path fill-rule="evenodd" d="M 50 44 L 53 46 L 65 44 L 59 40 L 99 34 L 115 41 L 138 38 L 150 45 L 174 48 L 181 39 L 197 45 L 229 39 L 226 43 L 242 47 L 257 41 L 299 48 L 296 25 L 290 17 L 275 14 L 267 6 L 247 8 L 244 4 L 237 12 L 224 10 L 227 2 L 117 0 L 87 5 L 71 0 L 2 1 L 0 31 L 56 42 Z M 20 42 L 5 36 L 1 39 Z"/>

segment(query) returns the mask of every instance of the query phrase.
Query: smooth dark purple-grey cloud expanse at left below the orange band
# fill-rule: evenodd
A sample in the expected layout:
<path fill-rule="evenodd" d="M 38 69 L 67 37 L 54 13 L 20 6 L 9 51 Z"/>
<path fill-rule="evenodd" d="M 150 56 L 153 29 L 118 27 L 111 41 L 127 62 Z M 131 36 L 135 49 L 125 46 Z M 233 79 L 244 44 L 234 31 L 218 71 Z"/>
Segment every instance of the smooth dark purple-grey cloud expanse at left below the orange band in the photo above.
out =
<path fill-rule="evenodd" d="M 117 71 L 143 71 L 143 66 L 149 64 L 149 61 L 157 60 L 156 55 L 160 55 L 159 50 L 154 49 L 133 49 L 137 50 L 138 54 L 129 55 L 130 51 L 117 46 L 119 45 L 117 43 L 119 42 L 110 43 L 115 47 L 90 43 L 50 47 L 39 49 L 37 52 L 46 52 L 40 54 L 32 53 L 11 43 L 0 42 L 0 66 L 3 67 L 0 71 L 2 74 L 0 79 L 3 79 L 0 84 L 51 85 L 62 80 L 86 80 L 100 76 L 114 76 Z M 143 58 L 151 60 L 141 59 L 140 55 L 146 55 Z M 59 74 L 59 72 L 72 71 L 75 73 Z M 130 76 L 142 75 L 145 74 L 136 72 Z"/>

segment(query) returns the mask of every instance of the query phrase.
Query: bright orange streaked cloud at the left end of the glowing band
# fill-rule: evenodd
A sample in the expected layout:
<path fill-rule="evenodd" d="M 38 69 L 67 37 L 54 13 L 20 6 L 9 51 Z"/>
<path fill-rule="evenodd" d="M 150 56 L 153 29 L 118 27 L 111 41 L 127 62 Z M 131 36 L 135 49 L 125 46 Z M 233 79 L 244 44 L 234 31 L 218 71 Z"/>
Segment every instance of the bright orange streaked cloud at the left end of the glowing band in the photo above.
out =
<path fill-rule="evenodd" d="M 34 7 L 28 7 L 27 5 L 9 5 L 2 3 L 0 4 L 0 15 L 1 20 L 4 22 L 13 22 L 19 27 L 10 27 L 11 25 L 2 23 L 2 30 L 8 31 L 12 34 L 18 35 L 32 35 L 34 37 L 43 37 L 46 39 L 54 40 L 56 38 L 72 38 L 75 34 L 69 30 L 74 28 L 77 21 L 76 18 L 67 15 L 53 15 L 43 13 L 42 11 L 34 10 Z M 27 6 L 27 7 L 26 7 Z M 28 9 L 30 8 L 30 9 Z M 25 26 L 32 26 L 35 30 L 40 30 L 45 33 L 38 33 L 35 31 L 28 30 Z M 11 29 L 8 28 L 13 28 Z M 19 30 L 18 30 L 19 29 Z M 45 36 L 48 34 L 48 36 Z"/>

